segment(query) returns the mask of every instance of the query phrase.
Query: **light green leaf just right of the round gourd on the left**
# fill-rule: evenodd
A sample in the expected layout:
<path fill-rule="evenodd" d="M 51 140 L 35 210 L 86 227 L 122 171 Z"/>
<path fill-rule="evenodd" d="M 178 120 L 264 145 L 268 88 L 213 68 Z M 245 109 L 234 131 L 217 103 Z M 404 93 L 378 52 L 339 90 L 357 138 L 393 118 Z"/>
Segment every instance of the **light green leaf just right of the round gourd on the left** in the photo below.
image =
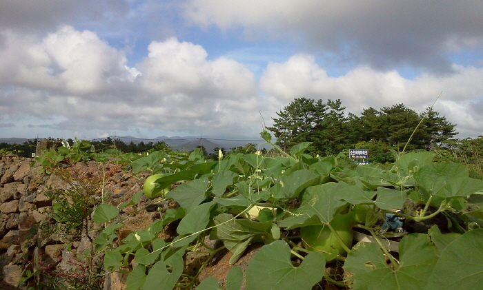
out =
<path fill-rule="evenodd" d="M 178 185 L 166 194 L 166 198 L 176 200 L 188 214 L 206 198 L 205 193 L 207 190 L 208 178 L 200 178 Z"/>

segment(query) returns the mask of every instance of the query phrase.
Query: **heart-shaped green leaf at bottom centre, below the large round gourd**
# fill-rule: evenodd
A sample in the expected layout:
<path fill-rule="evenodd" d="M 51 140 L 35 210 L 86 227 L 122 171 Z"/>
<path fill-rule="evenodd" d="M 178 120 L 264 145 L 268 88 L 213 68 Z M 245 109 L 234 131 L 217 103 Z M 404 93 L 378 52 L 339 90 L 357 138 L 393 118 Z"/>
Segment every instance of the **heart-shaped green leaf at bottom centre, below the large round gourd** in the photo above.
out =
<path fill-rule="evenodd" d="M 262 247 L 248 263 L 246 290 L 310 290 L 322 280 L 325 262 L 321 253 L 312 252 L 294 267 L 290 247 L 277 240 Z"/>

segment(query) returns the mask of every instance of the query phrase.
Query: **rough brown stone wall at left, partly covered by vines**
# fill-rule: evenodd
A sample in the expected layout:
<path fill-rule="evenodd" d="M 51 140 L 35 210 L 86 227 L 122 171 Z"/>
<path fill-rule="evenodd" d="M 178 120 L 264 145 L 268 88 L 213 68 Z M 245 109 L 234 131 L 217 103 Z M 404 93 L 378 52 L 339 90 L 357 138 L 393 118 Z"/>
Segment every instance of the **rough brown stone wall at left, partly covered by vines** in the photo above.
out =
<path fill-rule="evenodd" d="M 55 220 L 49 214 L 52 212 L 52 200 L 48 193 L 66 190 L 69 185 L 55 174 L 48 175 L 40 167 L 31 167 L 31 158 L 20 158 L 13 155 L 0 156 L 0 289 L 27 289 L 35 286 L 35 279 L 30 279 L 29 285 L 21 284 L 26 270 L 39 269 L 50 271 L 56 275 L 74 273 L 84 270 L 85 262 L 79 262 L 83 251 L 90 249 L 92 236 L 65 236 L 52 234 Z M 77 165 L 76 165 L 77 166 Z M 108 198 L 108 203 L 119 205 L 141 190 L 142 180 L 121 171 L 118 165 L 103 165 L 99 163 L 84 164 L 83 172 L 95 168 L 106 172 L 103 186 L 97 192 Z M 89 167 L 90 166 L 90 167 Z M 66 166 L 68 167 L 68 166 Z M 92 167 L 92 168 L 91 168 Z M 147 198 L 141 199 L 136 206 L 124 208 L 121 216 L 127 216 L 133 211 L 139 212 L 124 222 L 120 230 L 127 235 L 131 231 L 142 229 L 149 225 L 159 213 L 155 210 L 147 211 Z M 162 205 L 161 205 L 162 206 Z M 157 207 L 156 207 L 157 209 Z M 88 225 L 92 227 L 92 224 Z M 95 261 L 99 262 L 101 257 Z M 105 289 L 122 289 L 116 287 L 113 281 L 119 280 L 115 276 L 106 279 Z"/>

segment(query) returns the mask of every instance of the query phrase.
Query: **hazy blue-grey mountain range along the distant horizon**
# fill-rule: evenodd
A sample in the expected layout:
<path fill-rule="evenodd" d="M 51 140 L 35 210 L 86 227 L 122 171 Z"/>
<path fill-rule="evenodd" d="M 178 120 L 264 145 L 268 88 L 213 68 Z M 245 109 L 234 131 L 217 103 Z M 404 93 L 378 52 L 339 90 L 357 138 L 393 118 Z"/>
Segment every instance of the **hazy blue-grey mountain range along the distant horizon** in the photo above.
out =
<path fill-rule="evenodd" d="M 110 138 L 114 138 L 111 136 Z M 106 138 L 95 138 L 95 139 L 90 139 L 90 141 L 102 141 L 105 140 Z M 120 140 L 124 143 L 135 143 L 139 144 L 141 142 L 144 143 L 157 143 L 157 142 L 164 142 L 168 144 L 168 146 L 172 147 L 172 149 L 178 150 L 178 151 L 193 151 L 197 146 L 203 145 L 203 147 L 206 149 L 206 152 L 212 153 L 213 150 L 218 147 L 218 148 L 224 148 L 226 151 L 230 151 L 230 148 L 233 147 L 238 147 L 238 146 L 244 146 L 248 143 L 264 143 L 262 139 L 259 140 L 229 140 L 229 139 L 221 139 L 221 138 L 199 138 L 196 136 L 174 136 L 174 137 L 168 137 L 168 136 L 159 136 L 154 139 L 147 139 L 147 138 L 136 138 L 133 136 L 116 136 L 117 140 Z M 23 144 L 24 142 L 27 141 L 32 141 L 35 140 L 33 139 L 28 139 L 28 138 L 0 138 L 0 143 L 8 143 L 8 144 Z M 262 146 L 264 148 L 269 148 L 266 145 Z"/>

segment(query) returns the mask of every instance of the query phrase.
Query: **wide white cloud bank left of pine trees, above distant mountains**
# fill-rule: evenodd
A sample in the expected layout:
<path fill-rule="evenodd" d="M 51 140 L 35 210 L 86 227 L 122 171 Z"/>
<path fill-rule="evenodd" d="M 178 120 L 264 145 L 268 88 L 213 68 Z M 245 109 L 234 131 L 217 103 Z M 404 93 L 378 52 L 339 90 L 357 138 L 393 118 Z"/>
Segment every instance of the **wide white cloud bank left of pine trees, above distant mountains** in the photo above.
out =
<path fill-rule="evenodd" d="M 253 73 L 232 59 L 208 60 L 200 45 L 152 41 L 146 58 L 129 68 L 124 53 L 94 32 L 64 26 L 37 40 L 4 35 L 0 85 L 10 89 L 1 90 L 3 116 L 56 116 L 49 127 L 73 131 L 230 136 L 252 133 L 245 123 L 260 121 Z"/>

